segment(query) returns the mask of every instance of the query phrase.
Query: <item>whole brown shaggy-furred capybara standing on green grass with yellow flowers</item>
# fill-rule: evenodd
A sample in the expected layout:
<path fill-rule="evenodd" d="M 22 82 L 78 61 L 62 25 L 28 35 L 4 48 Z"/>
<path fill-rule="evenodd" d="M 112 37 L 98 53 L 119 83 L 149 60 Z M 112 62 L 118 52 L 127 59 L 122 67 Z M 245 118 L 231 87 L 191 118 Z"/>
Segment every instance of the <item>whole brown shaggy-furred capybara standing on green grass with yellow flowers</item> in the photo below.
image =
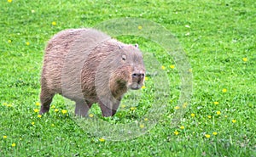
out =
<path fill-rule="evenodd" d="M 61 31 L 45 48 L 40 114 L 49 111 L 52 98 L 59 93 L 76 102 L 76 115 L 87 115 L 97 103 L 103 116 L 112 116 L 128 89 L 143 86 L 144 76 L 137 46 L 93 29 Z"/>

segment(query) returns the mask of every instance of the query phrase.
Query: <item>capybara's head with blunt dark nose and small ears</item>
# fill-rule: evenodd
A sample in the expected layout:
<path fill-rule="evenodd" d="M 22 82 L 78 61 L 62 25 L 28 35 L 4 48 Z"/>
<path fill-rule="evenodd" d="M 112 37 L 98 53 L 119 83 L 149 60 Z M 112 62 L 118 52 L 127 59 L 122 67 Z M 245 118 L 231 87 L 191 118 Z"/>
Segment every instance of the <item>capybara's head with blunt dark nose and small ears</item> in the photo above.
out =
<path fill-rule="evenodd" d="M 120 63 L 117 69 L 119 74 L 116 78 L 117 83 L 132 90 L 143 87 L 146 71 L 143 64 L 143 54 L 138 45 L 119 46 L 117 58 Z"/>

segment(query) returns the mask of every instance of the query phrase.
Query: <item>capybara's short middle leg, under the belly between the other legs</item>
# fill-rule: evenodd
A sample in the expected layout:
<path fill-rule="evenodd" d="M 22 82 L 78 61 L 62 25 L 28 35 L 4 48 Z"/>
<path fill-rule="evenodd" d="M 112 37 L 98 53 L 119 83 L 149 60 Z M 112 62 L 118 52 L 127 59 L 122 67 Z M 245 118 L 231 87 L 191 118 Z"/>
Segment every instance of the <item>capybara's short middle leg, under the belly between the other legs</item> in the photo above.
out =
<path fill-rule="evenodd" d="M 91 107 L 91 103 L 84 100 L 76 101 L 75 115 L 85 117 Z"/>

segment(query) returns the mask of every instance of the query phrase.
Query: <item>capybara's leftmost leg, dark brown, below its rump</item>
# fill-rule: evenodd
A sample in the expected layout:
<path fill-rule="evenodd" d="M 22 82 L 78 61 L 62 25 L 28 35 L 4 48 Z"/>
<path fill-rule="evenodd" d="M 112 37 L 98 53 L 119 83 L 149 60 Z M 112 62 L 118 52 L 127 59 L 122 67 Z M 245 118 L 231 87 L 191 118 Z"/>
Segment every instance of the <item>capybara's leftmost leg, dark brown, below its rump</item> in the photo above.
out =
<path fill-rule="evenodd" d="M 41 90 L 40 101 L 41 101 L 41 109 L 39 114 L 44 114 L 45 112 L 49 112 L 49 105 L 52 102 L 52 98 L 54 98 L 54 93 L 49 93 L 46 90 Z"/>

